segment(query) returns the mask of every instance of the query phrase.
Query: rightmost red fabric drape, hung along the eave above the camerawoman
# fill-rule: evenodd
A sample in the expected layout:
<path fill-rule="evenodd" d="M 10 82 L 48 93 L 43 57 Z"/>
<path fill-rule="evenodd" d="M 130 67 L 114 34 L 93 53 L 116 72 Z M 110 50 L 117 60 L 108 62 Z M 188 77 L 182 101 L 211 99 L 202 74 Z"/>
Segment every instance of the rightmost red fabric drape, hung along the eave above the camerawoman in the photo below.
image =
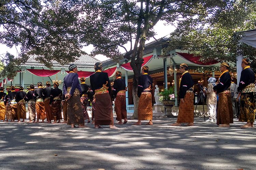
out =
<path fill-rule="evenodd" d="M 200 58 L 202 56 L 195 56 L 194 54 L 180 53 L 180 52 L 176 52 L 176 53 L 179 54 L 182 58 L 185 58 L 186 60 L 199 65 L 208 66 L 208 65 L 213 65 L 218 63 L 218 61 L 216 60 L 200 61 Z"/>

